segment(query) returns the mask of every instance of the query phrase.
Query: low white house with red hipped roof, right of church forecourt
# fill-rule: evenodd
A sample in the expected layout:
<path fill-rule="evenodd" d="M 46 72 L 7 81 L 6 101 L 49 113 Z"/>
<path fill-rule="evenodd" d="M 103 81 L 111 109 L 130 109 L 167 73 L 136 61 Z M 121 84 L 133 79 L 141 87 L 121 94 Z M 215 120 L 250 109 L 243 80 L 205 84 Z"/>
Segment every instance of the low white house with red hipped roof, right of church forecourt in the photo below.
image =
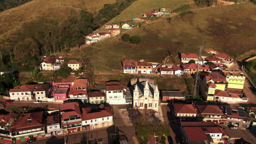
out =
<path fill-rule="evenodd" d="M 183 119 L 196 119 L 199 114 L 199 111 L 194 104 L 174 104 L 173 108 L 176 117 Z"/>

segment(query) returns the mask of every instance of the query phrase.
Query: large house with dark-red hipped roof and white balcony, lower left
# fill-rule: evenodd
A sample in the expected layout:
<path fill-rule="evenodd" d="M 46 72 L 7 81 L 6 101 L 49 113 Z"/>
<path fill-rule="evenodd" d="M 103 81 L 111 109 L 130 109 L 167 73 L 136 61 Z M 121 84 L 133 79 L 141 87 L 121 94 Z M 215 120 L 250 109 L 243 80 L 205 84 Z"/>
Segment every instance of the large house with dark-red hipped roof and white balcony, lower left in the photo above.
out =
<path fill-rule="evenodd" d="M 14 142 L 26 142 L 30 137 L 45 137 L 44 111 L 24 113 L 10 125 L 10 135 Z"/>

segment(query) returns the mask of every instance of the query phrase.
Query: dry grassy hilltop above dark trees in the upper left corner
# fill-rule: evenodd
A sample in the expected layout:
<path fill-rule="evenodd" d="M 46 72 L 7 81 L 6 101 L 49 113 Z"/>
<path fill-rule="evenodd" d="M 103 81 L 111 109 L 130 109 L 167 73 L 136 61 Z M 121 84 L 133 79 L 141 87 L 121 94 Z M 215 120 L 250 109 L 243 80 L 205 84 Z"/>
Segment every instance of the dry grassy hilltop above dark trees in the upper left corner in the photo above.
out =
<path fill-rule="evenodd" d="M 104 4 L 114 2 L 115 0 L 34 0 L 0 13 L 0 35 L 15 32 L 24 22 L 41 17 L 63 20 L 85 8 L 96 13 Z"/>

